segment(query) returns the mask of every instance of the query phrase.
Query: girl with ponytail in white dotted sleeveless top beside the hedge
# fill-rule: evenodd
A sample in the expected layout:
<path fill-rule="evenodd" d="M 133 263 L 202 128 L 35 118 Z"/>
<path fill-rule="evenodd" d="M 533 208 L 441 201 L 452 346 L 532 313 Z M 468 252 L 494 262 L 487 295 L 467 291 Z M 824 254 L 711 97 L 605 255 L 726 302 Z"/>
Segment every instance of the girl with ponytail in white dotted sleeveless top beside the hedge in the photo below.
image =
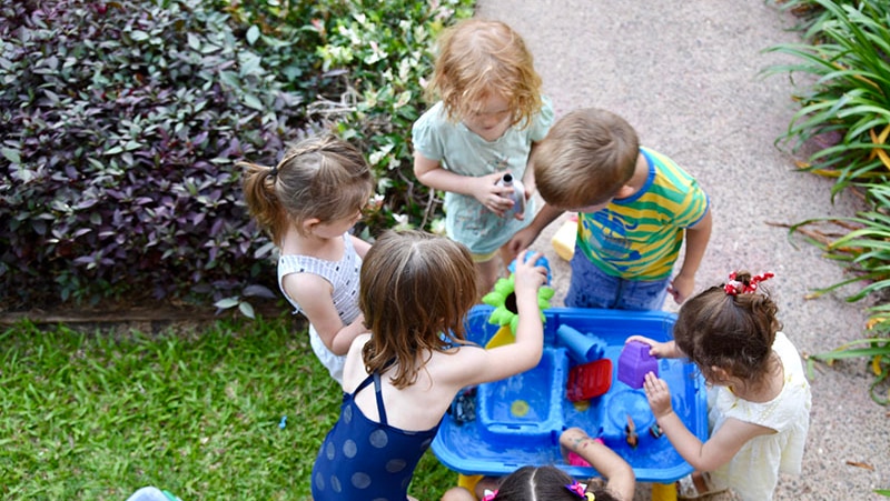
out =
<path fill-rule="evenodd" d="M 280 250 L 278 287 L 306 315 L 313 351 L 342 383 L 346 352 L 367 332 L 358 271 L 370 246 L 348 232 L 374 190 L 370 168 L 333 136 L 301 141 L 273 168 L 243 166 L 250 214 Z"/>

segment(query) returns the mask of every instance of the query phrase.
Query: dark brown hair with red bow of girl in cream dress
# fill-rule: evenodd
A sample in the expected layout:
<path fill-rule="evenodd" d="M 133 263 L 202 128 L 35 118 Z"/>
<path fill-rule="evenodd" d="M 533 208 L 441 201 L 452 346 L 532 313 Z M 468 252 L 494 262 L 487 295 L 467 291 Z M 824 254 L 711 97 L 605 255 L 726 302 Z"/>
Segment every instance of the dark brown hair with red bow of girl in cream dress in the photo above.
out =
<path fill-rule="evenodd" d="M 750 285 L 751 273 L 738 271 L 735 280 Z M 756 292 L 734 295 L 715 285 L 683 303 L 674 340 L 705 379 L 714 377 L 716 367 L 756 384 L 771 368 L 772 343 L 782 329 L 778 311 L 762 285 Z"/>

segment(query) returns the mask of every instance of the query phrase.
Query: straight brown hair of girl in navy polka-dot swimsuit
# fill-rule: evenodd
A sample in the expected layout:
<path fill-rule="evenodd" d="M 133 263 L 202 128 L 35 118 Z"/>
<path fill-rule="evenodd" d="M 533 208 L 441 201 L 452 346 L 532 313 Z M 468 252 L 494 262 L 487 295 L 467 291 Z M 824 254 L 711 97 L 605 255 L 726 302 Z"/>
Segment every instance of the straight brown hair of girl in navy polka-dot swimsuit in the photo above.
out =
<path fill-rule="evenodd" d="M 417 230 L 388 230 L 362 265 L 358 307 L 373 332 L 363 351 L 368 373 L 395 361 L 396 388 L 413 384 L 421 353 L 464 339 L 476 300 L 476 268 L 463 244 Z M 428 358 L 427 358 L 428 360 Z"/>

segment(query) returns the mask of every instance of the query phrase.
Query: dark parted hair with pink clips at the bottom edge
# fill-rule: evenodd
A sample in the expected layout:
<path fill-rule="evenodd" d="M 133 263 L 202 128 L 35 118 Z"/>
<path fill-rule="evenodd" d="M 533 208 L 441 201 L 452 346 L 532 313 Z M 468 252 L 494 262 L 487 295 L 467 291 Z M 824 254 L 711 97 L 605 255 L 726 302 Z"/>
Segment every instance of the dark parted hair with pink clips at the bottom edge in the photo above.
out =
<path fill-rule="evenodd" d="M 574 479 L 556 467 L 522 467 L 501 481 L 497 488 L 496 501 L 583 501 L 565 487 Z M 593 492 L 596 501 L 619 501 L 605 489 L 587 489 Z"/>

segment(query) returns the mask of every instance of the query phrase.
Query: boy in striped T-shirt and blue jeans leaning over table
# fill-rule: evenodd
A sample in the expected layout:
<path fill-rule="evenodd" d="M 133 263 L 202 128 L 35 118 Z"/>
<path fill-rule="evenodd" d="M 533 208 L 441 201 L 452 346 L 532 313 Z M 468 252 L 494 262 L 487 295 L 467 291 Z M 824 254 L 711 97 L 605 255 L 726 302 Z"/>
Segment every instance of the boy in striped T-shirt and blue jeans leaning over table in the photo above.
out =
<path fill-rule="evenodd" d="M 660 310 L 682 303 L 711 237 L 708 196 L 669 158 L 639 144 L 621 117 L 581 109 L 561 118 L 532 156 L 546 204 L 517 232 L 524 249 L 564 211 L 577 211 L 565 305 Z M 685 257 L 671 280 L 685 238 Z"/>

